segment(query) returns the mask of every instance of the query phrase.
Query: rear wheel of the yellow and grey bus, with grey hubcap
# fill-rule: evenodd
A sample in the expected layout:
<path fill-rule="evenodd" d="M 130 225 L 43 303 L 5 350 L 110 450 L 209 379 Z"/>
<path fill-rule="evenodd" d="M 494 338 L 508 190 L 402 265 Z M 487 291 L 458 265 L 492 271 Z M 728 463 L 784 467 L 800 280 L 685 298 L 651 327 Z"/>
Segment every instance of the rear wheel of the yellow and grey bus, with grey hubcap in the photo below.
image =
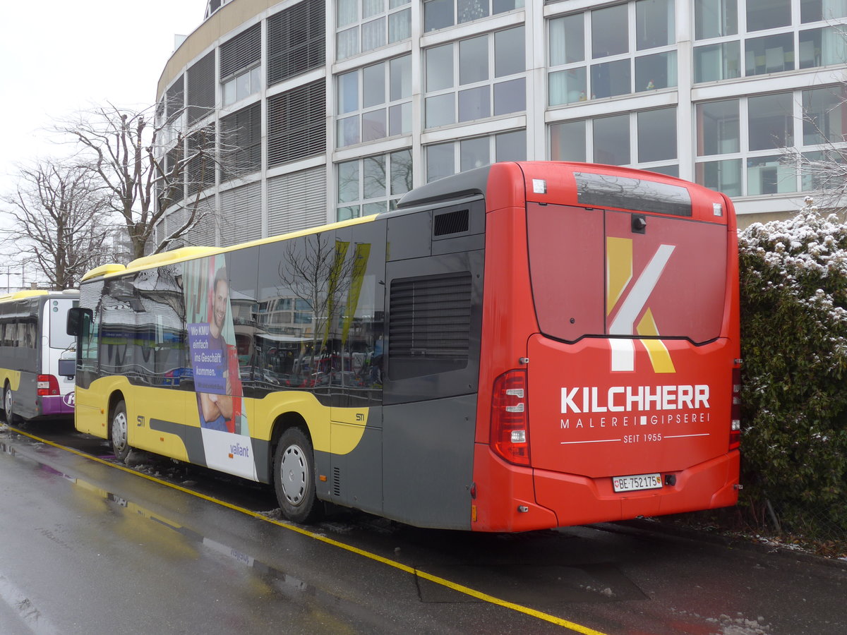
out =
<path fill-rule="evenodd" d="M 274 488 L 282 513 L 291 522 L 314 522 L 321 516 L 312 443 L 300 428 L 285 430 L 276 445 Z"/>

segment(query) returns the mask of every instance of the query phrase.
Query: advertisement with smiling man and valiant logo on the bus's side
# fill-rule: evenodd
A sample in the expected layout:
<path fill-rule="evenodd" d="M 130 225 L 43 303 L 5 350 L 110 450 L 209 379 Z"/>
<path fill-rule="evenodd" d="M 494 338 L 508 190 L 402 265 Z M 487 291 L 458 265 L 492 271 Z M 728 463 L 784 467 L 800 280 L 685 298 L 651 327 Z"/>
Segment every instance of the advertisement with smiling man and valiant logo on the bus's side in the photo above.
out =
<path fill-rule="evenodd" d="M 206 463 L 255 478 L 224 256 L 185 262 L 184 267 L 188 350 Z"/>

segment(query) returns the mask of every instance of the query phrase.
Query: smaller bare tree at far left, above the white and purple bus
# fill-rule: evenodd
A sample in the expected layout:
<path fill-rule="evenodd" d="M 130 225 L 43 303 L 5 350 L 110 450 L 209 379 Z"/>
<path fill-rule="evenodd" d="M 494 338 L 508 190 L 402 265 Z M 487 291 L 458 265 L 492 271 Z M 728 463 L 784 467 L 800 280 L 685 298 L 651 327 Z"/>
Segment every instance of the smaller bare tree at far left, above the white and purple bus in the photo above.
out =
<path fill-rule="evenodd" d="M 0 199 L 12 220 L 3 242 L 53 289 L 77 286 L 88 269 L 112 259 L 115 228 L 101 187 L 89 165 L 42 160 L 19 168 L 16 191 Z"/>

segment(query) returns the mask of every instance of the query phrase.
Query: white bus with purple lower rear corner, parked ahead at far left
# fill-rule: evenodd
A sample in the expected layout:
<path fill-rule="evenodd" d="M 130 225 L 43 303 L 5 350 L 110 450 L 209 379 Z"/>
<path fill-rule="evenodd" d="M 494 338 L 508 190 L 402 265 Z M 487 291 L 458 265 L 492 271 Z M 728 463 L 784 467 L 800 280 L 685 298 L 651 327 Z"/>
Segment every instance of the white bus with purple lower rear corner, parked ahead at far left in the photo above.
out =
<path fill-rule="evenodd" d="M 76 290 L 0 295 L 0 385 L 8 424 L 74 416 L 75 339 L 65 325 L 78 301 Z"/>

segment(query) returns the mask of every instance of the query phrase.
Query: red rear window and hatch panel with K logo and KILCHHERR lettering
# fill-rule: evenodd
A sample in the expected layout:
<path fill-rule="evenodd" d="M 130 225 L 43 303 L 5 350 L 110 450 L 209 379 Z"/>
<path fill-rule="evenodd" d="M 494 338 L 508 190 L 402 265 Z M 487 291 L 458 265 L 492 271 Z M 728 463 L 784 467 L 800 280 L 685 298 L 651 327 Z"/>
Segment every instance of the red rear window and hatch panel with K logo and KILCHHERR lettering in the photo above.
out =
<path fill-rule="evenodd" d="M 725 455 L 725 219 L 536 203 L 527 212 L 540 325 L 528 345 L 533 467 L 611 483 Z"/>

